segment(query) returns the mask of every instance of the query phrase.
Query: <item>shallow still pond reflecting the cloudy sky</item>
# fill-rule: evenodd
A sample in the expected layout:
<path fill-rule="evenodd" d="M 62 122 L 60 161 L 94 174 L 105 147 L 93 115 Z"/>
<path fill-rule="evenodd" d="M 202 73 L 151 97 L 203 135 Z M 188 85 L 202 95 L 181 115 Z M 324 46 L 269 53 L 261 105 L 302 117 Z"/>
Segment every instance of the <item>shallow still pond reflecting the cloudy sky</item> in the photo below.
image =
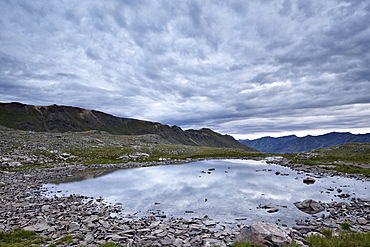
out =
<path fill-rule="evenodd" d="M 51 195 L 81 194 L 121 203 L 123 215 L 161 212 L 167 218 L 187 219 L 208 215 L 224 224 L 265 221 L 288 226 L 295 219 L 312 217 L 294 202 L 350 200 L 340 198 L 342 194 L 366 198 L 370 188 L 369 182 L 342 177 L 315 178 L 314 184 L 307 185 L 303 183 L 307 174 L 264 161 L 234 159 L 124 169 L 90 177 L 44 187 Z M 271 209 L 277 212 L 269 213 Z"/>

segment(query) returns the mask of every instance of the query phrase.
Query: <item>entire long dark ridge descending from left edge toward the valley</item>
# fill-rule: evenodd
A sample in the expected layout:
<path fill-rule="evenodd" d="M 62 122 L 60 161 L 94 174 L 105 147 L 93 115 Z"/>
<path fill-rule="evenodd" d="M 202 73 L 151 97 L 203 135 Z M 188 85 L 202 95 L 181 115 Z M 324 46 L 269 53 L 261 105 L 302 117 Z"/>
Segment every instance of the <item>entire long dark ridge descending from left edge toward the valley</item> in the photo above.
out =
<path fill-rule="evenodd" d="M 0 103 L 0 125 L 38 132 L 107 131 L 115 135 L 157 134 L 174 144 L 257 150 L 245 146 L 232 136 L 210 129 L 182 130 L 149 121 L 120 118 L 103 112 L 72 106 L 33 106 L 21 103 Z"/>

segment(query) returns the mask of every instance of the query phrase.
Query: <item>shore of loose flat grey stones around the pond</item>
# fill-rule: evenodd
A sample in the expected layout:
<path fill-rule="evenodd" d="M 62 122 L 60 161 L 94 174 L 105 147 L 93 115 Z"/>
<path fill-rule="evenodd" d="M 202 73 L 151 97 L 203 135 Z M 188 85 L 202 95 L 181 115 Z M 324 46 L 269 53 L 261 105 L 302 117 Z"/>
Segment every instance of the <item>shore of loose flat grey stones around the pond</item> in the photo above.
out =
<path fill-rule="evenodd" d="M 207 216 L 192 220 L 165 218 L 161 213 L 153 213 L 143 218 L 122 216 L 119 205 L 105 203 L 102 199 L 83 195 L 46 197 L 45 191 L 41 189 L 50 179 L 67 177 L 73 172 L 87 169 L 123 169 L 199 160 L 204 159 L 72 165 L 21 172 L 0 171 L 1 182 L 5 185 L 0 188 L 0 231 L 23 228 L 55 241 L 65 235 L 73 235 L 73 242 L 66 244 L 69 246 L 95 246 L 106 242 L 123 246 L 229 246 L 236 240 L 241 229 L 231 232 Z M 316 176 L 349 176 L 363 179 L 358 175 L 342 174 L 320 167 L 289 164 L 286 160 L 271 162 Z M 326 214 L 315 216 L 311 220 L 297 219 L 297 224 L 292 229 L 294 240 L 299 241 L 307 234 L 323 229 L 338 231 L 343 222 L 349 222 L 352 225 L 351 230 L 370 232 L 368 198 L 351 198 L 350 203 L 318 203 L 325 209 Z M 304 246 L 302 243 L 301 245 Z"/>

